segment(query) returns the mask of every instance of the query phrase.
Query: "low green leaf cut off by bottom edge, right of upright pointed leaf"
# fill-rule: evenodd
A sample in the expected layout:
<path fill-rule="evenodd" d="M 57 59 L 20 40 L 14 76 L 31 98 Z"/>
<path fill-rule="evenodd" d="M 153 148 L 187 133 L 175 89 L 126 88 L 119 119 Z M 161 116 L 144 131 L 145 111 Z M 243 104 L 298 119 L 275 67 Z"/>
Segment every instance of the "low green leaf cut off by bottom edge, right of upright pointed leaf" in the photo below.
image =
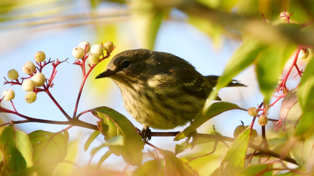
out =
<path fill-rule="evenodd" d="M 265 172 L 265 170 L 268 170 Z M 239 174 L 239 176 L 247 175 L 260 175 L 260 176 L 273 176 L 273 165 L 271 164 L 256 164 L 250 167 L 247 167 Z M 265 173 L 264 173 L 265 172 Z M 262 174 L 263 173 L 263 174 Z"/>

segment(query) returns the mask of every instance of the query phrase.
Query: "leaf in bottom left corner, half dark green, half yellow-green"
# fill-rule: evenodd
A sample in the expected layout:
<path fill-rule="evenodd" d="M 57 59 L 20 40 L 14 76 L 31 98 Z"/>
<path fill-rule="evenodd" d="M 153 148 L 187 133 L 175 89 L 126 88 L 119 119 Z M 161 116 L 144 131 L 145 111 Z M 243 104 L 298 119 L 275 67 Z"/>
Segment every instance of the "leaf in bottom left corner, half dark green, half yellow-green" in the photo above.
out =
<path fill-rule="evenodd" d="M 14 173 L 33 165 L 32 145 L 26 133 L 8 125 L 0 135 L 5 170 Z"/>

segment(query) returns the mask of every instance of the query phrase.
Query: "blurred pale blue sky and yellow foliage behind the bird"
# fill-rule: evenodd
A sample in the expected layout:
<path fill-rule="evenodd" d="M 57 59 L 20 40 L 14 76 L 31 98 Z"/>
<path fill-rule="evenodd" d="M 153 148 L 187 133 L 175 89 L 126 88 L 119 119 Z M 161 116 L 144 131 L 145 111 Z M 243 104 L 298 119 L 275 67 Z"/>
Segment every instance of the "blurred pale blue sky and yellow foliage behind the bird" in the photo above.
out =
<path fill-rule="evenodd" d="M 196 67 L 203 75 L 220 75 L 232 53 L 241 44 L 243 32 L 259 35 L 263 31 L 253 28 L 252 22 L 262 22 L 263 17 L 273 24 L 282 23 L 279 13 L 288 9 L 294 12 L 292 21 L 304 23 L 312 19 L 312 13 L 301 9 L 310 1 L 269 1 L 269 0 L 12 0 L 0 2 L 0 75 L 15 69 L 20 77 L 26 77 L 21 68 L 26 61 L 34 62 L 34 54 L 44 51 L 46 58 L 65 60 L 57 67 L 57 75 L 52 95 L 62 108 L 71 116 L 74 103 L 82 79 L 78 65 L 73 65 L 72 49 L 82 41 L 91 45 L 111 40 L 116 48 L 108 60 L 104 60 L 91 72 L 83 89 L 78 112 L 98 106 L 108 106 L 119 111 L 139 129 L 140 124 L 125 111 L 118 87 L 110 79 L 94 80 L 95 76 L 106 69 L 108 61 L 117 53 L 128 50 L 146 48 L 155 51 L 175 54 Z M 303 3 L 303 5 L 302 5 Z M 301 4 L 301 5 L 300 5 Z M 305 4 L 305 5 L 304 5 Z M 310 7 L 309 7 L 310 8 Z M 43 73 L 51 74 L 52 67 L 46 66 Z M 294 75 L 294 74 L 292 74 Z M 254 67 L 249 67 L 238 75 L 236 80 L 248 87 L 225 88 L 219 91 L 223 101 L 237 104 L 242 108 L 263 101 L 258 91 L 254 75 Z M 297 80 L 296 80 L 297 81 Z M 291 84 L 294 84 L 293 82 Z M 19 85 L 0 85 L 0 92 L 6 89 L 15 91 L 14 105 L 21 114 L 34 118 L 65 121 L 66 118 L 45 93 L 39 93 L 32 104 L 24 102 L 25 91 Z M 12 109 L 9 102 L 1 102 L 1 106 Z M 279 118 L 279 107 L 269 111 L 269 118 Z M 22 120 L 17 116 L 0 114 L 4 122 Z M 153 118 L 153 117 L 152 117 Z M 90 113 L 80 117 L 81 120 L 96 124 L 97 118 Z M 244 111 L 225 112 L 204 124 L 198 129 L 200 133 L 217 132 L 233 137 L 233 130 L 241 125 L 249 125 L 252 118 Z M 29 133 L 34 130 L 57 132 L 66 126 L 52 124 L 27 123 L 16 125 Z M 181 131 L 185 127 L 172 131 Z M 269 136 L 282 136 L 272 131 L 268 125 Z M 160 130 L 152 130 L 159 131 Z M 70 140 L 79 138 L 80 145 L 78 163 L 86 164 L 89 152 L 83 151 L 83 144 L 92 130 L 73 127 L 69 130 Z M 260 130 L 257 129 L 260 135 Z M 98 142 L 98 143 L 97 143 Z M 99 136 L 93 143 L 95 146 L 103 142 Z M 173 137 L 153 137 L 150 141 L 155 146 L 174 151 L 176 143 Z M 145 146 L 145 150 L 153 150 Z M 198 148 L 195 149 L 196 151 Z M 201 149 L 199 149 L 201 150 Z M 207 153 L 212 149 L 209 148 Z M 97 162 L 104 149 L 96 155 Z M 184 155 L 184 154 L 183 154 Z M 183 156 L 182 155 L 182 156 Z M 218 157 L 218 156 L 211 156 Z M 112 162 L 114 161 L 114 162 Z M 107 165 L 117 167 L 123 163 L 121 157 L 111 156 L 105 161 Z M 204 168 L 217 168 L 220 163 L 206 163 Z M 117 168 L 122 168 L 121 165 Z M 201 174 L 201 173 L 200 173 Z"/>

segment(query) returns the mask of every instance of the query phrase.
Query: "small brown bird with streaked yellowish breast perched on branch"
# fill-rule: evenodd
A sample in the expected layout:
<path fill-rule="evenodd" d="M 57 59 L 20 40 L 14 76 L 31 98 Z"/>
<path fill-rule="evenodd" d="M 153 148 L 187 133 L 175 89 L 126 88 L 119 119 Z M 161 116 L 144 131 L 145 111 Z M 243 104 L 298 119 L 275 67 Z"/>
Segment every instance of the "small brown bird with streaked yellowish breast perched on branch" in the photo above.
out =
<path fill-rule="evenodd" d="M 124 107 L 150 129 L 173 129 L 191 122 L 203 109 L 219 76 L 203 76 L 186 60 L 173 54 L 133 49 L 116 54 L 107 70 L 96 76 L 111 78 L 119 87 Z M 228 86 L 244 86 L 231 82 Z M 216 100 L 220 100 L 217 96 Z"/>

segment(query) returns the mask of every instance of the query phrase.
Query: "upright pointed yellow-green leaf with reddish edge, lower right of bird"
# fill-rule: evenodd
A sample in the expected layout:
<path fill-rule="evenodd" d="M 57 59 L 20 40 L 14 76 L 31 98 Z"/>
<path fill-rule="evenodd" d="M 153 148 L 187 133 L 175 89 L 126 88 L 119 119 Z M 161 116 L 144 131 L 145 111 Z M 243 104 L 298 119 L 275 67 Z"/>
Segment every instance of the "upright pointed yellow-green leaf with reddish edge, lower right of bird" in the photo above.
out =
<path fill-rule="evenodd" d="M 233 142 L 221 162 L 219 175 L 238 175 L 245 166 L 251 128 L 246 128 Z"/>

